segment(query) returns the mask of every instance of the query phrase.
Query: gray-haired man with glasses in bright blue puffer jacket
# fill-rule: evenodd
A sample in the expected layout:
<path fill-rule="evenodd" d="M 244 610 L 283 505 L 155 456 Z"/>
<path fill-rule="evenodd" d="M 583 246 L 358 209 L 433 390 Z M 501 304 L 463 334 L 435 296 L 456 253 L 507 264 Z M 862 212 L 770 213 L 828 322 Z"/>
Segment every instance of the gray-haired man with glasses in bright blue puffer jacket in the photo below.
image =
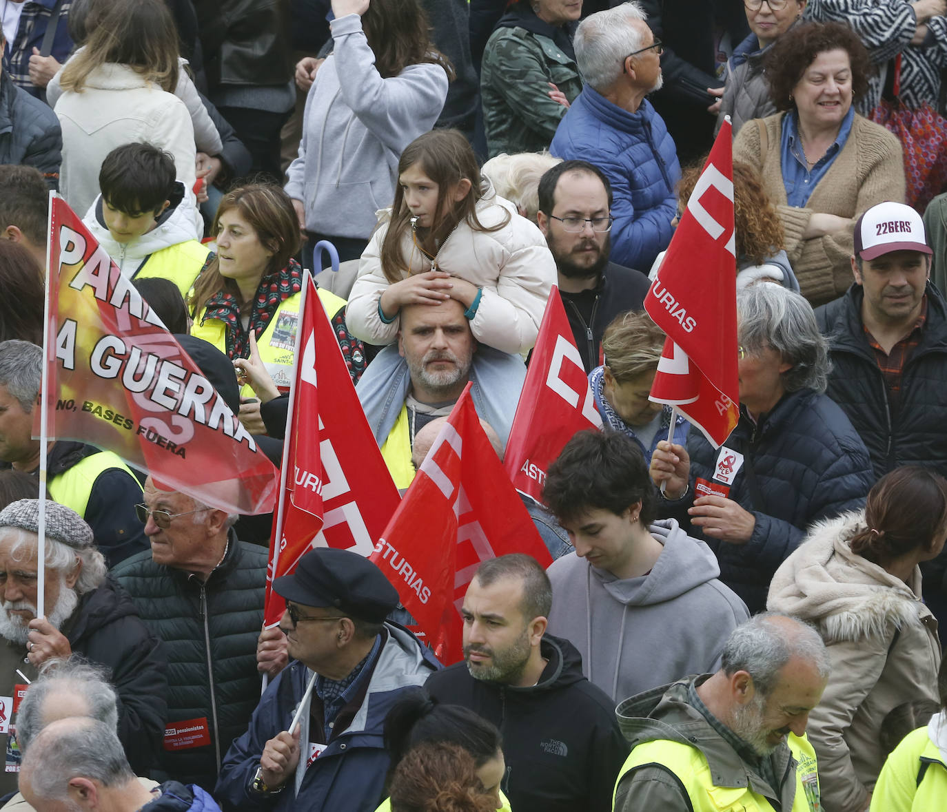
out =
<path fill-rule="evenodd" d="M 670 242 L 681 176 L 674 141 L 645 98 L 661 87 L 663 46 L 634 3 L 586 17 L 575 44 L 585 87 L 549 151 L 602 169 L 615 193 L 612 261 L 650 268 Z"/>

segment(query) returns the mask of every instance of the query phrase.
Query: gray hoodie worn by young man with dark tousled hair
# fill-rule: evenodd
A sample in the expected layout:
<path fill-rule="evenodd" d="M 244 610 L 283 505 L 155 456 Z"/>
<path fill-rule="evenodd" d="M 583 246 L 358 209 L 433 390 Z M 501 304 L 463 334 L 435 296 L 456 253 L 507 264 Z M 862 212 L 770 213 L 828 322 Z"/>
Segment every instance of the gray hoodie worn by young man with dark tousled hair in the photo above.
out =
<path fill-rule="evenodd" d="M 664 551 L 646 575 L 618 580 L 575 553 L 546 571 L 549 632 L 581 651 L 585 676 L 615 701 L 715 671 L 730 632 L 749 617 L 717 580 L 717 559 L 703 541 L 672 519 L 649 530 Z"/>

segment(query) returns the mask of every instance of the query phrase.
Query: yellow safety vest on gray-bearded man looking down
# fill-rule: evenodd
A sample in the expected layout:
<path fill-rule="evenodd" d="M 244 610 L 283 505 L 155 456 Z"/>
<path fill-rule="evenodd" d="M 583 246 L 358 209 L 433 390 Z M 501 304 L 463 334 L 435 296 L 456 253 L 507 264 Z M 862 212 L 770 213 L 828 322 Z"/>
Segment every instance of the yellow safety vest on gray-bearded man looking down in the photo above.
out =
<path fill-rule="evenodd" d="M 790 733 L 786 741 L 795 758 L 796 768 L 793 808 L 785 812 L 821 812 L 815 750 L 805 736 L 800 738 L 795 733 Z M 704 753 L 688 744 L 670 739 L 654 739 L 639 744 L 632 750 L 618 773 L 612 794 L 613 805 L 618 784 L 625 773 L 646 764 L 659 764 L 670 769 L 688 790 L 694 812 L 773 812 L 773 804 L 749 786 L 714 785 Z"/>

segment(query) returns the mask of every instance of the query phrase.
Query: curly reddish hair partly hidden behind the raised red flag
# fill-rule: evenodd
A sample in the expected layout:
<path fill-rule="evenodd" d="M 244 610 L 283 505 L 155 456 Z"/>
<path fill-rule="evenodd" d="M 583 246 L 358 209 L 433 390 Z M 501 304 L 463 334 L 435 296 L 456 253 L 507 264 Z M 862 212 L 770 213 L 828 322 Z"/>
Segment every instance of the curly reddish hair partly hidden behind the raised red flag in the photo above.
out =
<path fill-rule="evenodd" d="M 705 163 L 706 160 L 702 160 L 692 164 L 681 174 L 677 191 L 682 205 L 687 205 Z M 759 172 L 742 161 L 733 162 L 733 213 L 738 260 L 745 257 L 754 265 L 762 265 L 785 248 L 782 221 L 762 185 Z"/>

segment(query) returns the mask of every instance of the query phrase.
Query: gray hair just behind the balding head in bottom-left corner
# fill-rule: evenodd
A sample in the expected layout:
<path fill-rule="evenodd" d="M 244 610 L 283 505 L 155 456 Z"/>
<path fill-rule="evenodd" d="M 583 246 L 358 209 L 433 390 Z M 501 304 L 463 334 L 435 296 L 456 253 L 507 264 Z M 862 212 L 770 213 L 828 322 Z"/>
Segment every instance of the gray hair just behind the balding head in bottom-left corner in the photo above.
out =
<path fill-rule="evenodd" d="M 27 694 L 16 714 L 16 741 L 26 751 L 29 743 L 43 730 L 43 708 L 48 697 L 66 694 L 85 702 L 85 710 L 75 715 L 89 716 L 112 730 L 118 725 L 115 689 L 106 679 L 105 668 L 85 662 L 78 655 L 68 660 L 47 661 L 38 680 L 27 688 Z"/>

